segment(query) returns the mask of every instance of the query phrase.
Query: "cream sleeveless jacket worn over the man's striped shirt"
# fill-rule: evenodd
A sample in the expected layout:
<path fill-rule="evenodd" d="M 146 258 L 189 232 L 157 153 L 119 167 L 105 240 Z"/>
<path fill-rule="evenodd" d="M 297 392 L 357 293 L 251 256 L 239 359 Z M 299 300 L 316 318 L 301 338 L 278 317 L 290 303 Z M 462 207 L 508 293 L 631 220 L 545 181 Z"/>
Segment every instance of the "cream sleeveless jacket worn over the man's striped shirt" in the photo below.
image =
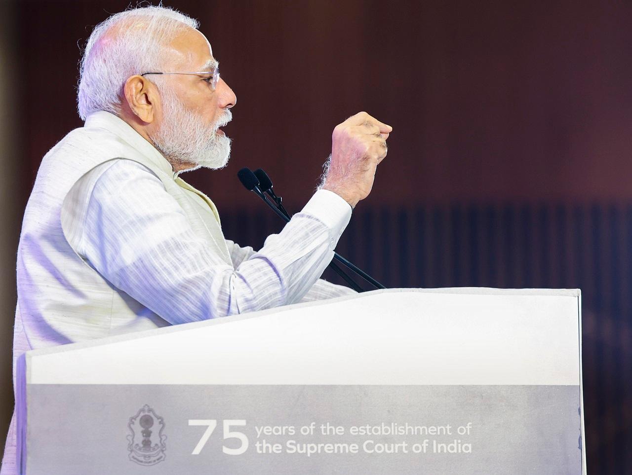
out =
<path fill-rule="evenodd" d="M 35 180 L 18 248 L 14 345 L 22 336 L 30 342 L 24 349 L 32 349 L 168 325 L 109 284 L 71 245 L 83 222 L 76 214 L 86 209 L 77 201 L 90 197 L 104 170 L 99 165 L 117 159 L 154 173 L 193 232 L 232 265 L 212 201 L 175 177 L 171 164 L 125 121 L 95 112 L 46 154 Z"/>

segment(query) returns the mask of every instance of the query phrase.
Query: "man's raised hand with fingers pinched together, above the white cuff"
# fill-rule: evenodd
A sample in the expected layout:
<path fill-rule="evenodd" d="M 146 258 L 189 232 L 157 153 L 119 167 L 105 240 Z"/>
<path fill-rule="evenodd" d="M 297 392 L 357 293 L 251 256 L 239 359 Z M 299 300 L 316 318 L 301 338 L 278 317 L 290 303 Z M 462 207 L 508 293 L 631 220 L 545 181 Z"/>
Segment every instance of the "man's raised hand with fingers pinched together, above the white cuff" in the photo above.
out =
<path fill-rule="evenodd" d="M 375 169 L 386 157 L 386 139 L 391 131 L 391 126 L 367 112 L 359 112 L 337 125 L 321 188 L 333 191 L 355 207 L 371 192 Z"/>

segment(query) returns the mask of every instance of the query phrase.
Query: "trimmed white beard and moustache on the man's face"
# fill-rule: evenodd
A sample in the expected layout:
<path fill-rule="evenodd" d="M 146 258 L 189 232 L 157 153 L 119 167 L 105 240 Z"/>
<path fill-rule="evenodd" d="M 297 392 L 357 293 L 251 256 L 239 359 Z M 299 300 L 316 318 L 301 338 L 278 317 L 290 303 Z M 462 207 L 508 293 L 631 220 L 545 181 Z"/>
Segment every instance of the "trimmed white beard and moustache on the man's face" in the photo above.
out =
<path fill-rule="evenodd" d="M 177 168 L 183 165 L 188 170 L 200 167 L 220 169 L 228 164 L 231 140 L 218 135 L 217 129 L 233 118 L 229 109 L 224 109 L 216 123 L 208 126 L 193 112 L 188 111 L 176 94 L 168 87 L 161 87 L 162 124 L 149 138 L 155 148 Z"/>

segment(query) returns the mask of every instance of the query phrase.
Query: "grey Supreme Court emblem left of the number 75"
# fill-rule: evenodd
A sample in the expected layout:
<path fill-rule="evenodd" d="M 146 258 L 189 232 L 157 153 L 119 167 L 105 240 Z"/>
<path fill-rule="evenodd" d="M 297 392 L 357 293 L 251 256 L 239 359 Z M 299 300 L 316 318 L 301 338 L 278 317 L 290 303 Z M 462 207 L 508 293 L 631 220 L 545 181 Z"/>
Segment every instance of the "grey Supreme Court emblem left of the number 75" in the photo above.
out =
<path fill-rule="evenodd" d="M 127 424 L 130 434 L 127 436 L 127 450 L 130 460 L 139 465 L 151 466 L 165 459 L 167 436 L 164 431 L 164 421 L 147 404 Z"/>

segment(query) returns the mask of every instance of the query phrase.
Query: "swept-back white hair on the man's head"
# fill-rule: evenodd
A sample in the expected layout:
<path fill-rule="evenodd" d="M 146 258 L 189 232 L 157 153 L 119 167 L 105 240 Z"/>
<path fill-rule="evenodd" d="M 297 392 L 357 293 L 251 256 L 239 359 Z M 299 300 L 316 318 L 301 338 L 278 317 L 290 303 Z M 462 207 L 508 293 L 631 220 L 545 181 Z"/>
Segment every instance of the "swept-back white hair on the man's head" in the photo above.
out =
<path fill-rule="evenodd" d="M 79 70 L 79 116 L 85 120 L 96 111 L 119 116 L 125 81 L 160 71 L 167 59 L 162 54 L 165 45 L 183 30 L 199 26 L 194 18 L 163 6 L 121 11 L 99 23 L 85 45 Z M 109 32 L 113 34 L 102 40 Z"/>

